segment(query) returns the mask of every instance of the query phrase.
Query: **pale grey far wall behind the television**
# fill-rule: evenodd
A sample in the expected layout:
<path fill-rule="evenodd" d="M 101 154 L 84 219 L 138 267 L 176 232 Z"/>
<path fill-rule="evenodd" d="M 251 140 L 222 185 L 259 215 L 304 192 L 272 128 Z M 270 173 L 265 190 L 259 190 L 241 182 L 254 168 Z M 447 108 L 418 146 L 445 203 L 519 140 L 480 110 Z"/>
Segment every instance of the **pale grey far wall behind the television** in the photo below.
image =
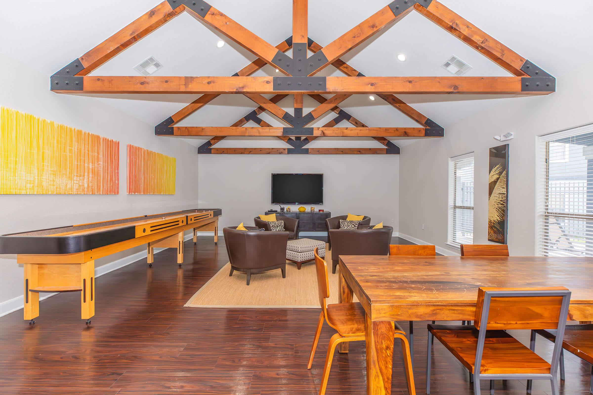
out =
<path fill-rule="evenodd" d="M 222 208 L 221 232 L 279 209 L 270 204 L 272 173 L 323 173 L 324 204 L 315 209 L 364 214 L 397 232 L 398 155 L 200 155 L 199 163 L 200 207 Z"/>

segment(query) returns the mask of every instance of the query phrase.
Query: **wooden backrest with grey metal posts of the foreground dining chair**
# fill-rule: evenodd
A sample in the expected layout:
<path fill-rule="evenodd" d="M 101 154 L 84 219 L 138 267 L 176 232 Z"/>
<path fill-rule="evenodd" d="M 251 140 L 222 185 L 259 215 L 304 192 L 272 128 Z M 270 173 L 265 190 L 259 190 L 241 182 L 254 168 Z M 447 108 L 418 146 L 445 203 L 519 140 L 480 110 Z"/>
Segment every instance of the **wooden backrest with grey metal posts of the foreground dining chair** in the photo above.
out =
<path fill-rule="evenodd" d="M 478 334 L 474 372 L 480 372 L 487 330 L 556 329 L 550 373 L 556 374 L 568 317 L 570 291 L 565 287 L 479 288 L 474 325 Z"/>

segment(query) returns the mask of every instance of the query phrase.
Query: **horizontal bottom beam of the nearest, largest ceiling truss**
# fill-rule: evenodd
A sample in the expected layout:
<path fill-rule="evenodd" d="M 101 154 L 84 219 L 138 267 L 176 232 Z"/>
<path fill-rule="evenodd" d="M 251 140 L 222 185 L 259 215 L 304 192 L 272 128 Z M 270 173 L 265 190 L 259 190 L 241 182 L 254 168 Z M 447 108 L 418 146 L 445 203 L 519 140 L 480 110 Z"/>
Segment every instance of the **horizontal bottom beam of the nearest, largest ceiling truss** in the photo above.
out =
<path fill-rule="evenodd" d="M 292 77 L 82 76 L 53 85 L 68 94 L 493 94 L 547 95 L 546 77 L 311 77 L 315 89 L 288 86 Z M 276 83 L 282 85 L 275 85 Z M 326 84 L 325 88 L 323 83 Z M 306 84 L 306 82 L 305 82 Z M 296 83 L 295 83 L 296 85 Z M 298 90 L 297 90 L 298 89 Z"/>

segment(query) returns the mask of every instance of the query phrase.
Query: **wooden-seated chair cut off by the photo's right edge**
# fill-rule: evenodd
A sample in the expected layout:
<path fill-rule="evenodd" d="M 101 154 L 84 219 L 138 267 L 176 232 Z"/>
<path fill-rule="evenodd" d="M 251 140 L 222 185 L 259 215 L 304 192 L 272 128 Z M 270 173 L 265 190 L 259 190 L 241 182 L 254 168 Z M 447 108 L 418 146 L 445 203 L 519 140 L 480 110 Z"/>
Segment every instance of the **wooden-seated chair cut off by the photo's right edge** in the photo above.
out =
<path fill-rule="evenodd" d="M 557 330 L 537 329 L 531 331 L 530 348 L 535 349 L 535 334 L 540 335 L 551 342 L 556 342 Z M 560 380 L 566 379 L 564 370 L 564 350 L 572 352 L 583 361 L 591 364 L 591 377 L 589 378 L 589 393 L 593 394 L 593 324 L 566 325 L 564 338 L 562 339 L 562 350 L 560 350 Z M 527 381 L 527 391 L 531 393 L 531 380 Z"/>

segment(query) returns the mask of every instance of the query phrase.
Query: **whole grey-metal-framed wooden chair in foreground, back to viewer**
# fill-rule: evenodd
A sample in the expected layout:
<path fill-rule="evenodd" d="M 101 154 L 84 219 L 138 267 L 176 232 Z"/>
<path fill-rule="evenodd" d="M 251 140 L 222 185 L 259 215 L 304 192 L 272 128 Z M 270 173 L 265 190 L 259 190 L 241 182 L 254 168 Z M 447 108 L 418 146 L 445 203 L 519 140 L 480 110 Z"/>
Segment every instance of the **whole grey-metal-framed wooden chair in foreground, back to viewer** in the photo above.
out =
<path fill-rule="evenodd" d="M 556 370 L 570 303 L 565 287 L 479 288 L 475 326 L 428 324 L 434 336 L 474 375 L 474 395 L 480 380 L 550 380 L 558 395 Z M 551 364 L 506 332 L 508 329 L 555 329 Z M 426 357 L 426 393 L 431 393 L 431 346 Z"/>

